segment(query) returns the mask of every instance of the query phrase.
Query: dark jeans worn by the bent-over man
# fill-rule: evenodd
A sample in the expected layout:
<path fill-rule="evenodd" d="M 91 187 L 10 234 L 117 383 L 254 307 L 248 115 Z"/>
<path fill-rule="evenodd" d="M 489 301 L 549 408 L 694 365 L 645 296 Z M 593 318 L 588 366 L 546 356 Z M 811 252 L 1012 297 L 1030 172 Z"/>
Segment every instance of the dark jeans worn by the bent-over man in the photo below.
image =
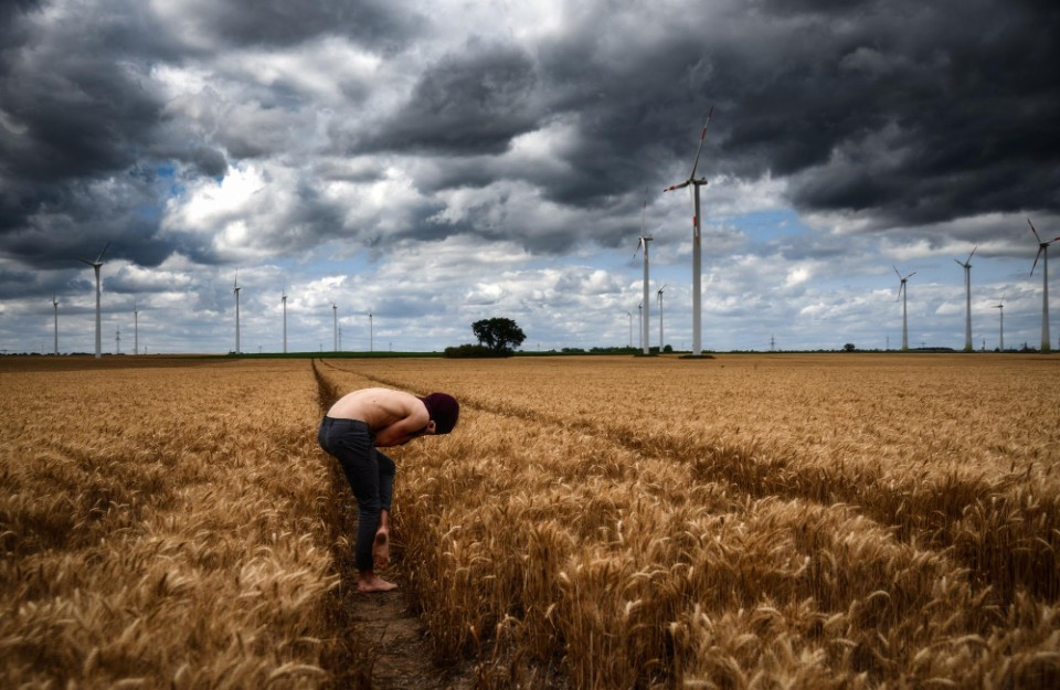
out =
<path fill-rule="evenodd" d="M 320 447 L 339 460 L 357 498 L 357 570 L 373 570 L 372 542 L 379 511 L 390 511 L 394 495 L 394 461 L 375 449 L 375 435 L 359 420 L 324 417 L 317 432 Z"/>

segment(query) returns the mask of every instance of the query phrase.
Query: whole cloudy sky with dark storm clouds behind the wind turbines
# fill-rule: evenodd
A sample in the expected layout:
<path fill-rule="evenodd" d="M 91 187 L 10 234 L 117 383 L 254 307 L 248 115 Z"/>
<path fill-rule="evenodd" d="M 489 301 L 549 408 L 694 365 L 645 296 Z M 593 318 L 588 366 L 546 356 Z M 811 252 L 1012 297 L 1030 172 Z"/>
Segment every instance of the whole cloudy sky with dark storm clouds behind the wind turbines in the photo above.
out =
<path fill-rule="evenodd" d="M 92 351 L 108 243 L 104 351 L 234 349 L 236 272 L 246 352 L 282 349 L 284 290 L 290 350 L 336 316 L 346 350 L 495 316 L 636 346 L 642 222 L 651 344 L 665 285 L 691 348 L 691 197 L 662 190 L 711 107 L 704 349 L 900 347 L 894 266 L 910 347 L 960 349 L 976 246 L 975 348 L 1001 298 L 1037 346 L 1057 36 L 1052 0 L 8 0 L 0 348 L 50 352 L 54 299 Z"/>

